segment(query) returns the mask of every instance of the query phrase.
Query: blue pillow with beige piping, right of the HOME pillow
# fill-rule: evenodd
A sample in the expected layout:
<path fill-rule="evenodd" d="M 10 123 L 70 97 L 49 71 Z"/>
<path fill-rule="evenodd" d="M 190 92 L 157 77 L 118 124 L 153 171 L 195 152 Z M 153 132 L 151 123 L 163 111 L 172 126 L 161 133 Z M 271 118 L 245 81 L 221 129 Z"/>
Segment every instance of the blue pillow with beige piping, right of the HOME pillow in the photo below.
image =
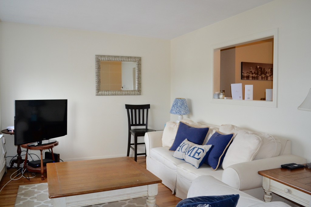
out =
<path fill-rule="evenodd" d="M 211 166 L 213 170 L 216 170 L 225 157 L 226 151 L 233 140 L 234 134 L 221 134 L 215 132 L 211 138 L 207 141 L 207 145 L 213 145 L 210 154 L 207 157 L 206 164 Z"/>

